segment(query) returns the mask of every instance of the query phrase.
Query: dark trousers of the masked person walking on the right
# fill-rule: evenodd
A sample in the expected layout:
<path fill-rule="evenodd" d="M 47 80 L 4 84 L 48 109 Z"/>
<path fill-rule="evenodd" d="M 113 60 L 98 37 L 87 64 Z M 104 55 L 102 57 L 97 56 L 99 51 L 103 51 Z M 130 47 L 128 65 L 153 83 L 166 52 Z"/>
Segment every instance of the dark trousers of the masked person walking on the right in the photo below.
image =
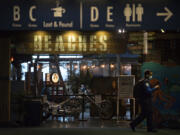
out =
<path fill-rule="evenodd" d="M 138 102 L 141 107 L 140 115 L 131 122 L 131 125 L 136 127 L 140 124 L 144 119 L 147 120 L 147 130 L 153 129 L 153 109 L 152 109 L 152 99 L 147 98 L 143 101 Z"/>

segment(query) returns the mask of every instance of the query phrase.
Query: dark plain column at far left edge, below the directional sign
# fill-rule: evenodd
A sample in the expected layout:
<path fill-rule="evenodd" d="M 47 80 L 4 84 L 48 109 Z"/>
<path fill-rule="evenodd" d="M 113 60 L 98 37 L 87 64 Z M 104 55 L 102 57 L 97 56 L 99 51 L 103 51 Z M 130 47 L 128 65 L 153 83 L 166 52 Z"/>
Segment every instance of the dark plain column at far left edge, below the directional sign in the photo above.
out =
<path fill-rule="evenodd" d="M 10 121 L 10 44 L 0 38 L 0 122 Z"/>

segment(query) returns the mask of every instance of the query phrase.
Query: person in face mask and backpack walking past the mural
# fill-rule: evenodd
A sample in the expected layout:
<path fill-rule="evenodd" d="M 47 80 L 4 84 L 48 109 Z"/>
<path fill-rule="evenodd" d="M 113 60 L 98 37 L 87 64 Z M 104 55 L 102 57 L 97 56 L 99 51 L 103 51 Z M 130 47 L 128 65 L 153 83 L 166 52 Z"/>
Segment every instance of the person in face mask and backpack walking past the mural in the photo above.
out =
<path fill-rule="evenodd" d="M 147 132 L 157 132 L 153 127 L 153 107 L 152 107 L 152 92 L 159 88 L 159 85 L 151 88 L 150 79 L 152 79 L 152 71 L 146 70 L 144 72 L 144 79 L 142 80 L 141 96 L 136 99 L 141 107 L 140 115 L 130 123 L 130 127 L 135 131 L 135 127 L 144 119 L 147 119 Z"/>

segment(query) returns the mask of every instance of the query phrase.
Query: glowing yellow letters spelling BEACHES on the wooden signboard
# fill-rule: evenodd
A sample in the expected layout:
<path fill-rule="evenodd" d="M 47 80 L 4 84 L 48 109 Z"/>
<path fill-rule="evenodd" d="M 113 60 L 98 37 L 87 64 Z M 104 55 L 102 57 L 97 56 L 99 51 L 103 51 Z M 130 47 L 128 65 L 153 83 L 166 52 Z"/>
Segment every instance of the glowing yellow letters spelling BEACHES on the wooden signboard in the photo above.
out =
<path fill-rule="evenodd" d="M 106 52 L 107 51 L 107 35 L 101 35 L 97 37 L 96 35 L 90 36 L 90 43 L 87 43 L 86 36 L 73 36 L 69 35 L 66 38 L 59 35 L 55 37 L 53 43 L 51 35 L 34 35 L 34 52 Z M 98 44 L 98 46 L 96 45 Z M 52 45 L 54 45 L 52 47 Z M 89 45 L 89 46 L 88 46 Z"/>

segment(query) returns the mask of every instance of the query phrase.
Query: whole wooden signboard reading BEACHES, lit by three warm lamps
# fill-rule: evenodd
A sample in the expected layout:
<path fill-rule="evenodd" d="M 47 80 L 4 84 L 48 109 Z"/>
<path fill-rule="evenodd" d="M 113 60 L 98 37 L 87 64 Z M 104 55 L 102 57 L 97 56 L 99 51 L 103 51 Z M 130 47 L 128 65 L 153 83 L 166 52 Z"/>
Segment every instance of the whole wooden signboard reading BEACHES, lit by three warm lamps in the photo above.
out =
<path fill-rule="evenodd" d="M 125 39 L 120 39 L 109 32 L 95 33 L 31 33 L 16 38 L 19 53 L 48 54 L 86 54 L 86 53 L 122 53 L 125 50 Z"/>

